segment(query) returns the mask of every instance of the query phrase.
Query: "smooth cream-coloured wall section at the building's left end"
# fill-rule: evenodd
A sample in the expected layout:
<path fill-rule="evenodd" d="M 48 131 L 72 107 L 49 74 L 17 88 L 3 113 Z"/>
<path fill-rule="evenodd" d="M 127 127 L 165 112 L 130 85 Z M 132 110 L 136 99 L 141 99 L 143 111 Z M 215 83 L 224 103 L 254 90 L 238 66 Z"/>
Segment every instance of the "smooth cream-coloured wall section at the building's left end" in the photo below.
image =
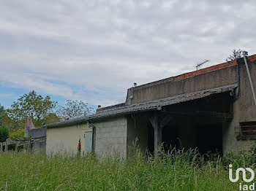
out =
<path fill-rule="evenodd" d="M 81 154 L 85 150 L 84 133 L 90 131 L 87 124 L 72 125 L 62 128 L 48 128 L 46 139 L 46 153 L 54 155 L 67 153 L 76 155 L 78 152 L 78 141 L 81 140 Z"/>

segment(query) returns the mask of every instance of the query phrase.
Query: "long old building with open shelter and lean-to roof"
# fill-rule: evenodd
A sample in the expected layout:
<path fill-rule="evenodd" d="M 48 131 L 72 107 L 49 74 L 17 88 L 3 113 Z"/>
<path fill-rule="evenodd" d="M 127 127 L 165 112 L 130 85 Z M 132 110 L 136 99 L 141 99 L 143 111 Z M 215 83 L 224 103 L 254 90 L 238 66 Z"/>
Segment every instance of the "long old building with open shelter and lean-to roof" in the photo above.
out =
<path fill-rule="evenodd" d="M 256 55 L 246 57 L 256 88 Z M 256 106 L 244 58 L 127 90 L 123 104 L 47 128 L 48 154 L 94 150 L 127 157 L 138 138 L 143 151 L 170 147 L 227 153 L 256 138 Z"/>

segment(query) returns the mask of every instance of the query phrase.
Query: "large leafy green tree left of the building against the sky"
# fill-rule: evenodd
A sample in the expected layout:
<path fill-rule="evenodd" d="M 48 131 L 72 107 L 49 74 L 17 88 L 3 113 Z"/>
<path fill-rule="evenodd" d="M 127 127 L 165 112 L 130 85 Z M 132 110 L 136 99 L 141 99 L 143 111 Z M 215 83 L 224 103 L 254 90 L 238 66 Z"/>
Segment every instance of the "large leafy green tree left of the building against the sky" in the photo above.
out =
<path fill-rule="evenodd" d="M 51 101 L 49 95 L 44 98 L 32 90 L 29 94 L 20 96 L 18 101 L 13 102 L 11 109 L 7 109 L 7 117 L 12 120 L 10 128 L 23 127 L 29 116 L 33 117 L 34 125 L 40 127 L 55 106 L 56 102 Z"/>

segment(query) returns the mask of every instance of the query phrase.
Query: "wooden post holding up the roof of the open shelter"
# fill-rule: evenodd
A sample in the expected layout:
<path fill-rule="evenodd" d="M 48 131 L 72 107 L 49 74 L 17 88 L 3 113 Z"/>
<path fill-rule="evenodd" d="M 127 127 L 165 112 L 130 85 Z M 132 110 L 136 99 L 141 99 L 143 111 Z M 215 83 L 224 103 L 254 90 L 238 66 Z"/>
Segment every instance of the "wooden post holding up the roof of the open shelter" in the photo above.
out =
<path fill-rule="evenodd" d="M 162 127 L 159 125 L 157 113 L 149 117 L 149 120 L 154 128 L 154 157 L 157 157 L 158 149 L 162 144 Z"/>

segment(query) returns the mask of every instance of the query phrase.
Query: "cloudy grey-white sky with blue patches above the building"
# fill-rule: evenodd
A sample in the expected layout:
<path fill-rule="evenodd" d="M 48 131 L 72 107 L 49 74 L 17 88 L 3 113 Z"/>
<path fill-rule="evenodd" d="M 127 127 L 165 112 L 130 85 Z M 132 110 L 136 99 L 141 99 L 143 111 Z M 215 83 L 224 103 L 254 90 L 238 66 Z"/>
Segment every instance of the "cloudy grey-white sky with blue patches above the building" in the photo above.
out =
<path fill-rule="evenodd" d="M 0 103 L 36 90 L 64 103 L 256 53 L 256 1 L 0 1 Z"/>

